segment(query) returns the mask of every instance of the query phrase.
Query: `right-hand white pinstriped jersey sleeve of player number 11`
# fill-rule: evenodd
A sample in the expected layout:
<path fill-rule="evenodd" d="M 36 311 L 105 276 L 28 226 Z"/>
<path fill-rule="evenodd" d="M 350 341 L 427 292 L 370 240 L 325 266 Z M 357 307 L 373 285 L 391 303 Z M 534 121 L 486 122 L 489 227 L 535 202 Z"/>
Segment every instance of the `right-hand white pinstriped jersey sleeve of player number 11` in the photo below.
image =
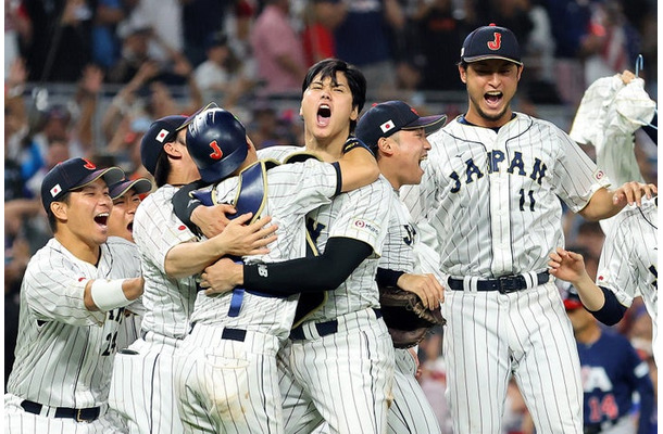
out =
<path fill-rule="evenodd" d="M 568 135 L 556 127 L 550 128 L 560 144 L 552 184 L 556 186 L 555 193 L 577 213 L 589 203 L 597 190 L 609 187 L 610 180 Z"/>

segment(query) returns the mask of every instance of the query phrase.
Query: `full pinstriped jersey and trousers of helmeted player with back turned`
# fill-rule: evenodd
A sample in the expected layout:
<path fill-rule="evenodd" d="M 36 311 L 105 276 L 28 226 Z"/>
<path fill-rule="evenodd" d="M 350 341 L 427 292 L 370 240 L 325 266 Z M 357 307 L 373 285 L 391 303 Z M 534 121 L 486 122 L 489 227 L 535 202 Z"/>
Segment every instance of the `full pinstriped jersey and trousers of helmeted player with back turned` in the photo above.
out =
<path fill-rule="evenodd" d="M 247 263 L 274 263 L 305 256 L 304 216 L 330 202 L 337 171 L 309 159 L 267 171 L 263 215 L 278 225 L 271 252 Z M 215 201 L 232 203 L 238 178 L 215 186 Z M 193 331 L 176 353 L 177 398 L 190 433 L 283 433 L 276 353 L 292 326 L 298 295 L 287 298 L 245 293 L 237 317 L 228 317 L 232 293 L 200 292 L 191 315 Z M 224 328 L 248 331 L 243 342 L 222 339 Z"/>

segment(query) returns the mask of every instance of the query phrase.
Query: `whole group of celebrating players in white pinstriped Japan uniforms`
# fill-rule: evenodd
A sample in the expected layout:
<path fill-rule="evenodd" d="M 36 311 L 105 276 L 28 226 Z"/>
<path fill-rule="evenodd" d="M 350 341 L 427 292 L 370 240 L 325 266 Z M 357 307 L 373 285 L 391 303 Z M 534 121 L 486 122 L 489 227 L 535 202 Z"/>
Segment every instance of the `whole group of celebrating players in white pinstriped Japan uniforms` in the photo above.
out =
<path fill-rule="evenodd" d="M 361 115 L 363 74 L 327 59 L 302 84 L 303 148 L 257 150 L 211 104 L 145 133 L 154 186 L 84 158 L 55 166 L 7 432 L 440 433 L 416 380 L 421 337 L 395 345 L 383 315 L 397 288 L 446 319 L 455 433 L 500 433 L 513 374 L 537 432 L 581 434 L 554 278 L 601 320 L 638 293 L 617 285 L 640 283 L 610 259 L 610 279 L 586 282 L 562 248 L 560 199 L 597 220 L 651 209 L 656 188 L 609 190 L 566 133 L 513 112 L 522 72 L 513 34 L 479 27 L 459 63 L 467 113 L 446 126 L 401 101 Z"/>

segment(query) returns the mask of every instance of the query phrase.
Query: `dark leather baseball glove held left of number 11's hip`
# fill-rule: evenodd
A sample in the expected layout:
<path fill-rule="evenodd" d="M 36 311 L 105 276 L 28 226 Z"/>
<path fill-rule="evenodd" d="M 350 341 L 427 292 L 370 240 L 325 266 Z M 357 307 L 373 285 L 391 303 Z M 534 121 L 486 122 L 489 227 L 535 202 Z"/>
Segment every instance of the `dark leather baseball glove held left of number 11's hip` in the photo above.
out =
<path fill-rule="evenodd" d="M 440 309 L 428 309 L 418 295 L 396 286 L 379 289 L 383 318 L 396 348 L 410 348 L 418 344 L 434 326 L 445 326 L 447 320 Z"/>

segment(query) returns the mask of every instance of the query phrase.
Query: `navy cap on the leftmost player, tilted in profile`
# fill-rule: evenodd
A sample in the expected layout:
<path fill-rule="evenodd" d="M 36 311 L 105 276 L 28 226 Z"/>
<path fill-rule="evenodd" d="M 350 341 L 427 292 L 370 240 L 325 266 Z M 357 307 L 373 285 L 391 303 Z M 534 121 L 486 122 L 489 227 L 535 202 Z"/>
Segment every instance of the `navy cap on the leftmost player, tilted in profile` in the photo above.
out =
<path fill-rule="evenodd" d="M 51 203 L 60 201 L 67 192 L 80 189 L 97 179 L 103 178 L 108 186 L 124 178 L 120 167 L 97 168 L 85 158 L 70 158 L 58 163 L 41 181 L 41 203 L 47 213 Z"/>

